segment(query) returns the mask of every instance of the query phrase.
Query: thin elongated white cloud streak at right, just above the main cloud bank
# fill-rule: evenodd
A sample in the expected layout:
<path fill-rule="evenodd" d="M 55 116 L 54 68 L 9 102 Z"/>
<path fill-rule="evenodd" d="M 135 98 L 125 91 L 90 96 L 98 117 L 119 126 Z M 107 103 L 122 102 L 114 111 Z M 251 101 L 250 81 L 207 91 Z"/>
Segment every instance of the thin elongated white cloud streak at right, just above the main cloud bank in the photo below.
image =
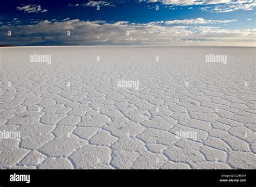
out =
<path fill-rule="evenodd" d="M 196 18 L 196 19 L 181 19 L 181 20 L 171 20 L 165 21 L 165 24 L 217 24 L 217 23 L 230 23 L 232 21 L 237 21 L 237 19 L 231 20 L 211 20 L 211 19 L 204 19 L 204 18 Z"/>

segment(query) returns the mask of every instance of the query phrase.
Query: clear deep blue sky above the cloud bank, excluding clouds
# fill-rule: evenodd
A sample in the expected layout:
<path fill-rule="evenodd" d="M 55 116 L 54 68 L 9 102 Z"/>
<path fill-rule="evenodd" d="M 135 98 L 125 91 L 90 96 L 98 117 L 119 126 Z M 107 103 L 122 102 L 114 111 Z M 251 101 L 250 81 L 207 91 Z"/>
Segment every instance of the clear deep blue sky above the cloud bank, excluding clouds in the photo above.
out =
<path fill-rule="evenodd" d="M 31 24 L 31 20 L 63 20 L 66 18 L 80 19 L 80 20 L 104 20 L 107 23 L 116 21 L 129 21 L 130 23 L 149 23 L 151 21 L 166 21 L 176 19 L 191 19 L 191 18 L 205 18 L 213 20 L 227 20 L 237 19 L 233 23 L 229 23 L 230 28 L 255 28 L 255 23 L 248 23 L 245 20 L 254 17 L 254 11 L 232 11 L 232 12 L 206 12 L 200 10 L 205 5 L 188 5 L 188 6 L 174 6 L 175 10 L 170 9 L 170 5 L 161 3 L 147 3 L 138 1 L 107 1 L 113 2 L 115 6 L 100 6 L 100 11 L 92 6 L 68 6 L 69 3 L 87 3 L 88 1 L 77 0 L 62 0 L 62 1 L 3 1 L 0 6 L 0 21 L 4 24 L 14 18 L 18 18 L 23 24 Z M 41 5 L 42 9 L 47 9 L 44 13 L 28 13 L 19 11 L 17 6 L 28 4 Z M 155 10 L 156 5 L 159 5 L 159 11 Z M 167 6 L 167 7 L 166 7 Z M 207 5 L 214 6 L 214 5 Z M 188 9 L 188 8 L 194 9 Z M 152 8 L 152 9 L 150 9 Z M 220 24 L 221 25 L 221 24 Z M 225 24 L 223 24 L 225 25 Z"/>

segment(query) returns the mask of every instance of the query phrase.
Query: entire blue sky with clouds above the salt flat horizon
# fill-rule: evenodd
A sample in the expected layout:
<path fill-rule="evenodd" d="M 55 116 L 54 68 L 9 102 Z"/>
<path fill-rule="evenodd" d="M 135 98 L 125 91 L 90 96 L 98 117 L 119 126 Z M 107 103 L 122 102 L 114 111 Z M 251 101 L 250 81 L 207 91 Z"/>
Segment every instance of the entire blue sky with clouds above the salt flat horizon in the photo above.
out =
<path fill-rule="evenodd" d="M 19 0 L 1 4 L 0 44 L 52 40 L 80 45 L 255 46 L 253 0 Z"/>

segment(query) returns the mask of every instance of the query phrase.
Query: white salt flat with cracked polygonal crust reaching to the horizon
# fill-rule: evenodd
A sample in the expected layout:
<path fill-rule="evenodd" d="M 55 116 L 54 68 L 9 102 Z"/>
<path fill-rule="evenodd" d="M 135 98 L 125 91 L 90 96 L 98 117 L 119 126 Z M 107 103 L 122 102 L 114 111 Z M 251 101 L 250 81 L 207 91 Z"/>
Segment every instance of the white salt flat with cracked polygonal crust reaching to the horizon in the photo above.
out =
<path fill-rule="evenodd" d="M 51 62 L 31 62 L 35 54 Z M 227 61 L 206 62 L 210 54 Z M 0 55 L 0 131 L 21 135 L 0 139 L 2 169 L 256 168 L 255 48 L 5 47 Z"/>

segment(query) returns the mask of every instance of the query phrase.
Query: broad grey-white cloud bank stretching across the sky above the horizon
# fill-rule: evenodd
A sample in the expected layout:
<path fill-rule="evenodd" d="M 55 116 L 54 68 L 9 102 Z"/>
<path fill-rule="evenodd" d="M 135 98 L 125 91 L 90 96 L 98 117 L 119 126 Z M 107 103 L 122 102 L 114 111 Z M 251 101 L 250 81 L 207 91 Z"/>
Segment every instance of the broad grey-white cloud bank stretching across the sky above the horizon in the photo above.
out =
<path fill-rule="evenodd" d="M 203 19 L 203 18 L 202 18 Z M 203 19 L 205 21 L 205 19 Z M 185 21 L 186 22 L 186 21 Z M 103 45 L 238 45 L 254 46 L 256 29 L 227 30 L 215 26 L 167 25 L 161 21 L 134 24 L 128 21 L 106 23 L 105 21 L 65 21 L 43 20 L 31 25 L 3 25 L 0 34 L 9 30 L 18 33 L 14 37 L 5 37 L 4 44 L 29 44 L 42 40 L 70 42 L 77 44 Z M 66 37 L 65 32 L 71 31 Z M 129 31 L 129 36 L 126 35 Z M 187 34 L 188 33 L 188 34 Z"/>

